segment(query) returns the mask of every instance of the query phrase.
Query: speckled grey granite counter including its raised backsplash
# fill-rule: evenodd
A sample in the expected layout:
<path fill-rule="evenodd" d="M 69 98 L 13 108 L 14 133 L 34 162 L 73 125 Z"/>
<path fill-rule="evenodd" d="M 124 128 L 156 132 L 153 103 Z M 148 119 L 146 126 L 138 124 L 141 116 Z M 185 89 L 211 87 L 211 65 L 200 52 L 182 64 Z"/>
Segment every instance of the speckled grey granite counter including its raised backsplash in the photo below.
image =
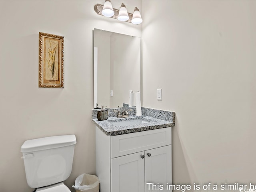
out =
<path fill-rule="evenodd" d="M 116 109 L 108 109 L 109 117 L 108 120 L 99 121 L 97 119 L 97 110 L 93 110 L 92 112 L 92 121 L 100 130 L 102 130 L 106 135 L 114 136 L 120 134 L 127 134 L 133 132 L 140 132 L 145 130 L 159 129 L 165 127 L 174 126 L 174 112 L 164 111 L 164 110 L 156 110 L 150 108 L 142 107 L 142 116 L 132 116 L 134 111 L 129 112 L 130 117 L 128 118 L 116 118 L 116 113 L 113 111 Z M 120 109 L 119 109 L 120 110 Z M 122 108 L 121 111 L 127 110 L 126 108 Z M 136 108 L 135 108 L 136 110 Z M 115 125 L 114 122 L 120 121 L 130 121 L 130 120 L 143 120 L 144 123 L 141 124 L 132 124 L 132 125 Z"/>

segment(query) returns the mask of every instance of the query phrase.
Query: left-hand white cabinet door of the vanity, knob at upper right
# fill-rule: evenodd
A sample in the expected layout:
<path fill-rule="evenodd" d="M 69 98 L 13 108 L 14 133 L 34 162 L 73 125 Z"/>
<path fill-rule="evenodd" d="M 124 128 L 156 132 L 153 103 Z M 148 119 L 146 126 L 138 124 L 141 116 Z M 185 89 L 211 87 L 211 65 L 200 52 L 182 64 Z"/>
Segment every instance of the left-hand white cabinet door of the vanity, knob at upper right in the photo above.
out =
<path fill-rule="evenodd" d="M 145 191 L 144 155 L 143 151 L 111 159 L 111 192 Z"/>

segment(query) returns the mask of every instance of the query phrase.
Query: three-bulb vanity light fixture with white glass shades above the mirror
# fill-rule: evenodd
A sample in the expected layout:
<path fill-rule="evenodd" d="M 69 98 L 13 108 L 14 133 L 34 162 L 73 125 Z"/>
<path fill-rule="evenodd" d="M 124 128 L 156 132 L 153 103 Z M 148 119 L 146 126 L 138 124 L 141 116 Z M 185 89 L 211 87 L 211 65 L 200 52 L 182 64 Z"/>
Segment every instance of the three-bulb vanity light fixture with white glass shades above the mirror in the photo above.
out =
<path fill-rule="evenodd" d="M 110 0 L 106 0 L 104 5 L 96 4 L 94 6 L 94 11 L 99 15 L 115 18 L 120 21 L 126 21 L 133 24 L 142 23 L 139 9 L 135 7 L 133 14 L 128 13 L 126 10 L 126 6 L 123 3 L 120 6 L 120 10 L 118 10 L 112 7 Z"/>

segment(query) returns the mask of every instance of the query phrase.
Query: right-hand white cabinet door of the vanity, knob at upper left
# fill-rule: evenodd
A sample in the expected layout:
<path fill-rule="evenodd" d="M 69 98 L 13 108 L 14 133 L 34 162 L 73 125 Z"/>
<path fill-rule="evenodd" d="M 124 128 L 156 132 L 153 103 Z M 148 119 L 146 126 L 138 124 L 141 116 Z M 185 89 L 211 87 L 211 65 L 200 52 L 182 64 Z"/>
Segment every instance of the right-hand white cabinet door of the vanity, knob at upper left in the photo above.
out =
<path fill-rule="evenodd" d="M 171 145 L 145 151 L 145 191 L 170 192 L 166 183 L 172 184 Z"/>

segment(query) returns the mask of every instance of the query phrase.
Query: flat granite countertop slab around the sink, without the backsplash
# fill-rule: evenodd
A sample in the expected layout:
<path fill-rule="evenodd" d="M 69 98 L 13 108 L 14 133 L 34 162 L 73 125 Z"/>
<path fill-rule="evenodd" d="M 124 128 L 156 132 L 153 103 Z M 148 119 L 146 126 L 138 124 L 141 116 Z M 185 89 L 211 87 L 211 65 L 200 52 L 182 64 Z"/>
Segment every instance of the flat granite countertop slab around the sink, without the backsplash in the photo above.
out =
<path fill-rule="evenodd" d="M 114 122 L 128 121 L 128 120 L 143 120 L 144 122 L 140 124 L 134 124 L 134 125 L 115 125 L 114 124 Z M 130 116 L 127 118 L 109 117 L 107 120 L 103 120 L 103 121 L 99 121 L 97 118 L 93 118 L 92 121 L 106 135 L 110 135 L 110 136 L 174 126 L 174 122 L 161 120 L 158 118 L 153 118 L 153 117 L 144 116 L 144 115 Z"/>

